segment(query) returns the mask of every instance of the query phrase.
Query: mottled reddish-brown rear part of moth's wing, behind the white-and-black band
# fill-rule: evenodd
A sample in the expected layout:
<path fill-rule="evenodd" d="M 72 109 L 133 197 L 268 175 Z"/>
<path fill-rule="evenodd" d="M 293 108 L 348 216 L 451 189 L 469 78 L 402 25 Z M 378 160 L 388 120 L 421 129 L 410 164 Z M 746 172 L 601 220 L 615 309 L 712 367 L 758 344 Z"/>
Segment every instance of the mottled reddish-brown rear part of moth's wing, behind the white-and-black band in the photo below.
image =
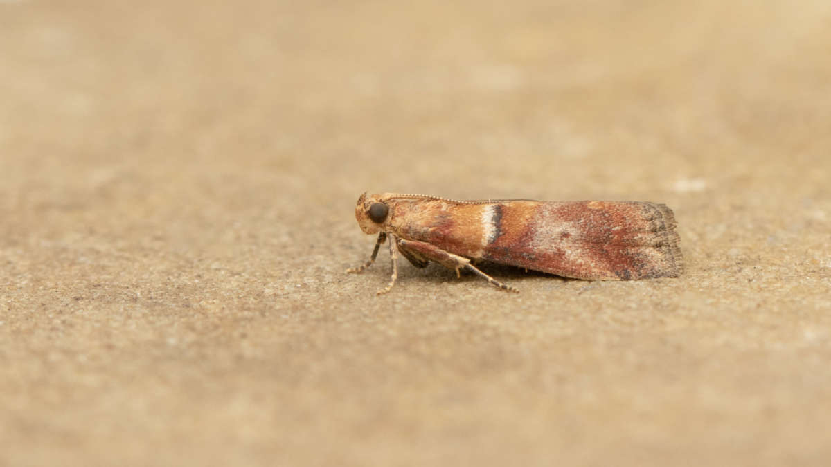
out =
<path fill-rule="evenodd" d="M 568 278 L 675 278 L 681 248 L 664 204 L 582 201 L 505 204 L 484 259 Z"/>

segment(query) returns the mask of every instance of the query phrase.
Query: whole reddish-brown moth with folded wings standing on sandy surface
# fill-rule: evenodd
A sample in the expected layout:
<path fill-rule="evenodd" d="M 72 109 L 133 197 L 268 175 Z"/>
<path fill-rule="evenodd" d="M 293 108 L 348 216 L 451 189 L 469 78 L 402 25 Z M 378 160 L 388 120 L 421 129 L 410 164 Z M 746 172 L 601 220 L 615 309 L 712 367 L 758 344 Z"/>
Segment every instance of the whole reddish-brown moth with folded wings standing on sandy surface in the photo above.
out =
<path fill-rule="evenodd" d="M 378 234 L 361 273 L 389 239 L 392 276 L 399 254 L 416 268 L 434 261 L 466 270 L 509 292 L 476 268 L 488 261 L 588 280 L 676 278 L 683 264 L 676 220 L 665 204 L 638 201 L 460 201 L 423 194 L 361 194 L 355 218 L 366 234 Z"/>

